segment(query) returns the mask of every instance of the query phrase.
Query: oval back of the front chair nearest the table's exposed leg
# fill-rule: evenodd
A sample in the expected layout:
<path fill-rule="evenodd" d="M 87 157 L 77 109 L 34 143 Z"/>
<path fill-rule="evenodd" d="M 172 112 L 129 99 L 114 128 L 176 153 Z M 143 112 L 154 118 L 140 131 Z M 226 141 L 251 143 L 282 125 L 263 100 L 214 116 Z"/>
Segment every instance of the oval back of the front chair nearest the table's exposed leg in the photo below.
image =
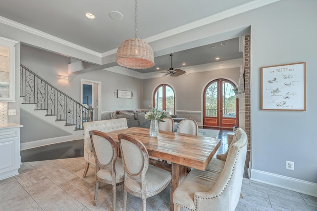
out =
<path fill-rule="evenodd" d="M 143 143 L 126 134 L 119 134 L 118 139 L 126 176 L 131 179 L 144 178 L 149 168 L 149 154 Z"/>

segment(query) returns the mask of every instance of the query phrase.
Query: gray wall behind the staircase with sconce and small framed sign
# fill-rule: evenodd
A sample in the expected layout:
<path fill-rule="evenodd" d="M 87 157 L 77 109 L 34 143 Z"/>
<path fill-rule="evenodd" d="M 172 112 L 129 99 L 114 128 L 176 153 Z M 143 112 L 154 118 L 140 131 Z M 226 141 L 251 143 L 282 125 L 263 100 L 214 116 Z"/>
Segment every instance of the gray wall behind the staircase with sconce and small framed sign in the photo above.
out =
<path fill-rule="evenodd" d="M 142 80 L 129 76 L 98 70 L 74 75 L 68 74 L 70 58 L 28 45 L 21 45 L 21 64 L 56 86 L 65 94 L 80 102 L 81 79 L 101 82 L 101 111 L 139 109 L 142 102 Z M 70 76 L 69 82 L 58 80 L 58 75 Z M 117 89 L 133 92 L 131 99 L 117 98 Z"/>

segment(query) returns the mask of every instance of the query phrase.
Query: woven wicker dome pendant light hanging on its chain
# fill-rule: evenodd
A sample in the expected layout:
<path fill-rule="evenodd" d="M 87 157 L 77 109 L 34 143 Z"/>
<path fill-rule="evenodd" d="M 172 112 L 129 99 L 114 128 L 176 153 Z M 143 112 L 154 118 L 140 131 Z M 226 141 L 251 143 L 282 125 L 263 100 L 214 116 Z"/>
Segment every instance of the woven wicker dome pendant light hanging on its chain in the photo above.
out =
<path fill-rule="evenodd" d="M 116 62 L 122 67 L 132 69 L 147 69 L 154 65 L 152 47 L 137 38 L 137 0 L 135 0 L 135 38 L 121 42 L 117 50 Z"/>

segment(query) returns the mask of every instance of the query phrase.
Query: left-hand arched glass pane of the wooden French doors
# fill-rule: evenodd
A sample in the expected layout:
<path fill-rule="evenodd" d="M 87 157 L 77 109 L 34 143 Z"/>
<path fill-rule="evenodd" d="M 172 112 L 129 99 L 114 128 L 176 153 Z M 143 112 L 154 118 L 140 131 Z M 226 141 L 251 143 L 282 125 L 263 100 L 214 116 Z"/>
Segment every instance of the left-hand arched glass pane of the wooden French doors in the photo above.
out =
<path fill-rule="evenodd" d="M 217 116 L 217 96 L 217 82 L 214 82 L 206 90 L 206 117 Z"/>

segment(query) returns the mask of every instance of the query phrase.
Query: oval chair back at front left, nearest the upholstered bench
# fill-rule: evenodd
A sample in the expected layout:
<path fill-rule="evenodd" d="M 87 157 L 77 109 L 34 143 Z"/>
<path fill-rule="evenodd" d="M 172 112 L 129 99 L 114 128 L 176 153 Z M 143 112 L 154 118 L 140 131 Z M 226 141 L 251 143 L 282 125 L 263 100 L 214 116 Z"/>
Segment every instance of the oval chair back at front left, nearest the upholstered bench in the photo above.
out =
<path fill-rule="evenodd" d="M 90 140 L 94 151 L 95 161 L 100 169 L 114 169 L 118 156 L 118 148 L 113 138 L 105 132 L 91 130 Z"/>

